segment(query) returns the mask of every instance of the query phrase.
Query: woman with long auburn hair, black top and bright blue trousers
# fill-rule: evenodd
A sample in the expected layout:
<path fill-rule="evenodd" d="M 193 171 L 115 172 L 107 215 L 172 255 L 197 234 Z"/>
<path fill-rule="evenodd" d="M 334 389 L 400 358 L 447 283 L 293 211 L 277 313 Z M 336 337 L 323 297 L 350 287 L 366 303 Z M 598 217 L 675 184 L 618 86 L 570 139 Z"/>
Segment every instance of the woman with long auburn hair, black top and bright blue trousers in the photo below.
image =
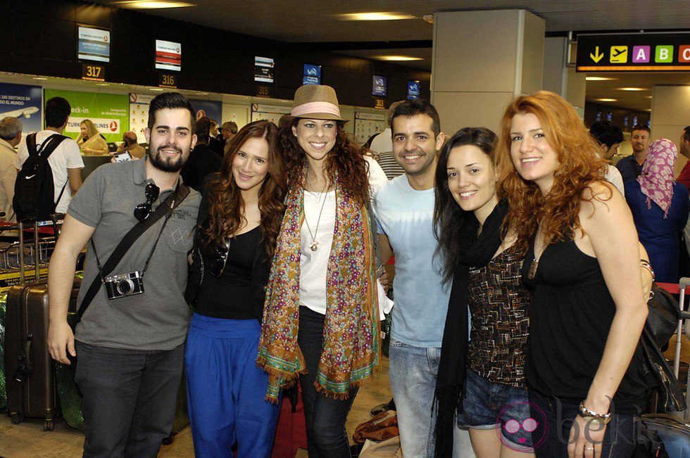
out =
<path fill-rule="evenodd" d="M 239 457 L 271 454 L 280 409 L 256 356 L 286 188 L 277 139 L 270 121 L 242 127 L 203 183 L 184 354 L 197 457 L 232 456 L 235 442 Z"/>

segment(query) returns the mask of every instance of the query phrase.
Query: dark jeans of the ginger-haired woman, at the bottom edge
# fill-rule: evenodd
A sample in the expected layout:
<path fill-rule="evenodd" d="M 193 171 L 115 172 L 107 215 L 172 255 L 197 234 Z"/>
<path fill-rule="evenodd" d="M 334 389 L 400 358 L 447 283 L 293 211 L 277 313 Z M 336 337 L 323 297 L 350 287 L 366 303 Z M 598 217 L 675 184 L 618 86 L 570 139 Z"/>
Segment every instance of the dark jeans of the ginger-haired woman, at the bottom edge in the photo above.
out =
<path fill-rule="evenodd" d="M 529 405 L 532 418 L 539 422 L 537 429 L 532 432 L 537 458 L 567 457 L 570 428 L 579 406 L 533 390 L 529 390 Z M 635 449 L 634 415 L 613 414 L 612 417 L 606 426 L 601 458 L 632 457 Z"/>

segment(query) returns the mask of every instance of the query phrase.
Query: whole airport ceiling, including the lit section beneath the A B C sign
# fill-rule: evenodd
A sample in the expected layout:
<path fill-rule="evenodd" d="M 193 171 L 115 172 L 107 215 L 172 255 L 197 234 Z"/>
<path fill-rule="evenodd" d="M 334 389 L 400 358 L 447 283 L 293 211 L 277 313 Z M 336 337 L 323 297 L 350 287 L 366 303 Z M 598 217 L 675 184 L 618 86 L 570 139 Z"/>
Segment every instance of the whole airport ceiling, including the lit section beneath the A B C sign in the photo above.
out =
<path fill-rule="evenodd" d="M 92 0 L 132 8 L 134 1 Z M 163 0 L 168 1 L 168 0 Z M 144 13 L 281 42 L 375 59 L 383 55 L 420 58 L 396 62 L 431 70 L 433 25 L 441 11 L 525 9 L 546 21 L 547 32 L 687 30 L 688 0 L 185 0 L 193 6 L 140 10 Z M 402 20 L 344 20 L 353 13 L 397 13 Z M 427 20 L 425 20 L 427 16 Z M 487 30 L 487 33 L 490 33 Z M 648 110 L 655 84 L 690 84 L 688 73 L 622 74 L 587 82 L 586 98 L 616 98 L 615 106 Z M 645 91 L 620 91 L 641 87 Z"/>

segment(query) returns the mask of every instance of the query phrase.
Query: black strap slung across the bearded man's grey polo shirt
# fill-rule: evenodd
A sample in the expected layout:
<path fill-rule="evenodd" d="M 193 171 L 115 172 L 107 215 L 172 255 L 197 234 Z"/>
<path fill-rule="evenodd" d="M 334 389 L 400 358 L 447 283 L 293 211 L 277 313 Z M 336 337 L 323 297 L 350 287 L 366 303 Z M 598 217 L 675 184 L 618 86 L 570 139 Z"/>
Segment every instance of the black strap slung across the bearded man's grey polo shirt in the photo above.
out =
<path fill-rule="evenodd" d="M 180 205 L 180 203 L 182 203 L 187 196 L 189 196 L 189 187 L 178 183 L 175 187 L 175 191 L 170 193 L 170 196 L 168 196 L 168 198 L 166 198 L 161 205 L 158 205 L 156 210 L 151 213 L 146 220 L 134 224 L 134 227 L 132 227 L 132 229 L 125 234 L 123 239 L 120 241 L 120 243 L 118 243 L 118 246 L 115 247 L 115 250 L 113 250 L 113 253 L 110 255 L 110 257 L 108 257 L 108 260 L 106 260 L 106 263 L 102 267 L 101 262 L 98 259 L 98 255 L 96 254 L 96 246 L 94 245 L 92 238 L 91 246 L 94 249 L 94 255 L 96 255 L 96 264 L 98 265 L 99 273 L 96 275 L 96 278 L 94 278 L 94 281 L 91 282 L 87 293 L 84 294 L 84 299 L 79 306 L 79 310 L 77 310 L 77 322 L 82 319 L 82 315 L 84 312 L 86 312 L 87 307 L 89 307 L 89 304 L 91 304 L 92 300 L 94 300 L 96 297 L 96 293 L 98 293 L 101 289 L 105 276 L 113 272 L 115 267 L 118 266 L 120 261 L 125 256 L 125 253 L 127 253 L 127 250 L 129 250 L 134 242 L 137 241 L 137 238 L 142 236 L 142 234 L 149 230 L 153 224 L 156 224 L 158 220 L 165 216 L 165 222 L 163 222 L 161 232 L 158 234 L 158 238 L 156 238 L 156 243 L 153 244 L 153 249 L 151 250 L 151 254 L 149 254 L 149 259 L 146 260 L 146 266 L 144 267 L 144 272 L 146 272 L 146 269 L 149 268 L 151 256 L 153 256 L 153 250 L 156 250 L 158 240 L 161 238 L 161 234 L 163 234 L 163 229 L 165 229 L 165 224 L 168 223 L 168 220 L 172 216 L 172 210 L 175 210 L 177 205 Z"/>

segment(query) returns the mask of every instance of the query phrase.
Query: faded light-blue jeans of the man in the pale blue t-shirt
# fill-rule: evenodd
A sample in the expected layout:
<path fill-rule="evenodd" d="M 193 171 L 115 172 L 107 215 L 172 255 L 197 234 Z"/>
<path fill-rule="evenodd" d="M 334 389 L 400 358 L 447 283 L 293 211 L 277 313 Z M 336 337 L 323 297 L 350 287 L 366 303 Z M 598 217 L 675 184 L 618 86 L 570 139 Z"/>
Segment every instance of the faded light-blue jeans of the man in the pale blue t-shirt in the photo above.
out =
<path fill-rule="evenodd" d="M 441 348 L 421 348 L 391 338 L 391 390 L 398 412 L 400 443 L 405 457 L 434 456 L 436 416 L 432 404 Z M 468 431 L 456 425 L 453 457 L 474 457 Z"/>

